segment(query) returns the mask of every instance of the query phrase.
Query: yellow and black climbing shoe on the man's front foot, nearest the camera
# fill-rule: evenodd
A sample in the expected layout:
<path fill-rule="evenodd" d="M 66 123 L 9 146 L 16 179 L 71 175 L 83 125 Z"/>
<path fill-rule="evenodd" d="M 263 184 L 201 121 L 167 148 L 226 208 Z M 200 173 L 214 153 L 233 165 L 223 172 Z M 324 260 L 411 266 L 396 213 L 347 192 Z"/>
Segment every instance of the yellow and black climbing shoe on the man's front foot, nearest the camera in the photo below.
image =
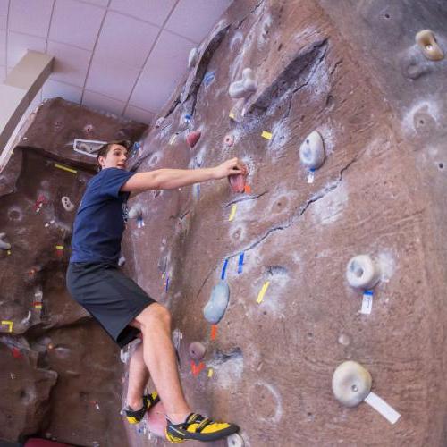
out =
<path fill-rule="evenodd" d="M 216 441 L 239 431 L 239 426 L 226 422 L 214 422 L 207 417 L 191 413 L 182 424 L 168 420 L 165 434 L 171 443 L 182 443 L 188 439 L 197 441 Z"/>

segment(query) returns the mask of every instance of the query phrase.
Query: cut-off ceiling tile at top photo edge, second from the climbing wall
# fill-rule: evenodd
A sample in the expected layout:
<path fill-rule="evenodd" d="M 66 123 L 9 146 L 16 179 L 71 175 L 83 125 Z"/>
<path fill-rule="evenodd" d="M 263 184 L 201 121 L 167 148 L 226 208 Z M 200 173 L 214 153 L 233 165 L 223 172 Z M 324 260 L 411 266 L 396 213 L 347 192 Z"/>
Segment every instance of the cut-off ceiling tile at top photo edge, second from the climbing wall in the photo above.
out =
<path fill-rule="evenodd" d="M 175 0 L 112 0 L 109 9 L 162 26 L 174 4 Z"/>

